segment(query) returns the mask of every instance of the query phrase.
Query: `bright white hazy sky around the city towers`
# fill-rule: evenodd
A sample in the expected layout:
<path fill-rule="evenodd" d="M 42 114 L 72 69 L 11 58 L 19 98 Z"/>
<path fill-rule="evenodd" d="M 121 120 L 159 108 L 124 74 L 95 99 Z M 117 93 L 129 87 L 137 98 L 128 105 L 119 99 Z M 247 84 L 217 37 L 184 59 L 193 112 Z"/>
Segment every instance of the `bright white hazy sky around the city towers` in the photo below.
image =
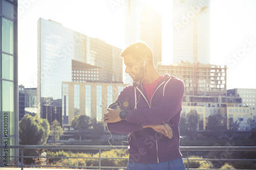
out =
<path fill-rule="evenodd" d="M 124 1 L 19 0 L 18 84 L 37 87 L 37 20 L 124 48 Z M 172 1 L 144 0 L 162 15 L 162 60 L 172 63 Z M 170 8 L 171 7 L 171 8 Z M 210 64 L 227 65 L 227 89 L 256 88 L 256 1 L 210 0 Z M 29 64 L 28 64 L 29 63 Z"/>

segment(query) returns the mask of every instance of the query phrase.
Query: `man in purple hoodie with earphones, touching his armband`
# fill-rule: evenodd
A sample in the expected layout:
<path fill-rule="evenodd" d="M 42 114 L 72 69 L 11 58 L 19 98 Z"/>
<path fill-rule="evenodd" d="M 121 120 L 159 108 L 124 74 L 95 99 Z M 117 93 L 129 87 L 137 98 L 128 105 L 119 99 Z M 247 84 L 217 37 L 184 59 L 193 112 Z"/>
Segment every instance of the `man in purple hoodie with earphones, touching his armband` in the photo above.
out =
<path fill-rule="evenodd" d="M 183 82 L 160 75 L 151 48 L 143 42 L 126 47 L 120 56 L 134 83 L 120 92 L 121 108 L 108 109 L 104 122 L 111 132 L 130 133 L 127 170 L 184 170 L 178 128 Z"/>

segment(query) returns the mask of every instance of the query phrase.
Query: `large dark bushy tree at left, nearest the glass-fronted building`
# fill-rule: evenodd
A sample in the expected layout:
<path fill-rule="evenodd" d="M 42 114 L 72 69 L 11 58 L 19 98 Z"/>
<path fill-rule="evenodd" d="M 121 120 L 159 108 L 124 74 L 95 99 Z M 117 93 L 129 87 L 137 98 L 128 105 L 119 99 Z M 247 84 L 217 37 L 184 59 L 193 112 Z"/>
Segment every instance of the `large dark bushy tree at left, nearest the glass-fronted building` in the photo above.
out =
<path fill-rule="evenodd" d="M 50 124 L 47 119 L 39 116 L 32 117 L 26 114 L 19 121 L 20 144 L 45 144 L 50 133 Z"/>

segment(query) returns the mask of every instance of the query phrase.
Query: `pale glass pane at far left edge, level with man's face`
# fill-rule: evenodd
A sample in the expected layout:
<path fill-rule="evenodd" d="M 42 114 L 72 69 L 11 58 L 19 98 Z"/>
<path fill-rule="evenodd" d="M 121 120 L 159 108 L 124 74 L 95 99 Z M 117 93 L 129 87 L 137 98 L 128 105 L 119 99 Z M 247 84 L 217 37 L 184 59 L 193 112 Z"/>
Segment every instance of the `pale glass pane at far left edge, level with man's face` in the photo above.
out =
<path fill-rule="evenodd" d="M 13 80 L 14 77 L 14 57 L 3 54 L 2 72 L 3 79 Z"/>

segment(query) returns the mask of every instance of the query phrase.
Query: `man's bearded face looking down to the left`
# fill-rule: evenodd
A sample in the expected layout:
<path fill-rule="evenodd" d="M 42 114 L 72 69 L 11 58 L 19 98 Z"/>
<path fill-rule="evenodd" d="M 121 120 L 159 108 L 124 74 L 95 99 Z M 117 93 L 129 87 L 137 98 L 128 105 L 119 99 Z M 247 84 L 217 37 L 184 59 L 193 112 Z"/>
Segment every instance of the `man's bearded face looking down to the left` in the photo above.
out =
<path fill-rule="evenodd" d="M 125 72 L 131 76 L 133 81 L 138 82 L 144 78 L 143 61 L 137 61 L 132 55 L 123 57 L 124 64 L 126 65 Z"/>

